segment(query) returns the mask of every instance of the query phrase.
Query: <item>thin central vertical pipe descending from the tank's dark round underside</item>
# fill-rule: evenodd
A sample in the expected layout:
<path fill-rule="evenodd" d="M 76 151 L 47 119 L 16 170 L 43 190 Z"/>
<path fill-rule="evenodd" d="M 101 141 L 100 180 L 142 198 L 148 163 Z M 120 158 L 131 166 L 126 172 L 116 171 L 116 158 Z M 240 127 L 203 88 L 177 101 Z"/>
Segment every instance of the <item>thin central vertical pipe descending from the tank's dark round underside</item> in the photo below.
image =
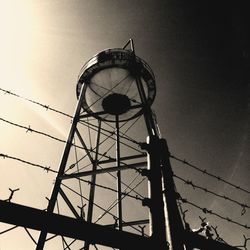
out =
<path fill-rule="evenodd" d="M 116 115 L 116 166 L 121 165 L 120 160 L 120 129 L 119 129 L 119 115 Z M 117 200 L 118 200 L 118 228 L 122 231 L 122 187 L 121 187 L 121 171 L 117 171 Z"/>

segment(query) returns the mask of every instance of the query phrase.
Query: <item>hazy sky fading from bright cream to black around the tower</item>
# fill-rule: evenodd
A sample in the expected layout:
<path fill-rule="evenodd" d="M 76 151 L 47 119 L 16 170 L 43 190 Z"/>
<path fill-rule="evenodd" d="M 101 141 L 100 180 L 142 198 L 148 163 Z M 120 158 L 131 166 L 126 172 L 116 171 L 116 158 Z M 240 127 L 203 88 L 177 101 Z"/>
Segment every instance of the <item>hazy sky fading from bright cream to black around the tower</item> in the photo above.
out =
<path fill-rule="evenodd" d="M 72 115 L 83 64 L 99 51 L 123 47 L 132 38 L 136 54 L 155 74 L 152 109 L 171 154 L 250 190 L 249 17 L 243 3 L 224 3 L 1 0 L 0 87 Z M 0 97 L 2 119 L 67 138 L 67 117 L 3 91 Z M 0 153 L 57 169 L 62 143 L 3 120 L 0 134 Z M 173 171 L 184 179 L 250 204 L 249 193 L 171 162 Z M 8 198 L 9 188 L 20 188 L 13 202 L 46 207 L 53 174 L 3 158 L 0 171 L 1 199 Z M 202 208 L 249 223 L 249 209 L 241 215 L 237 204 L 180 180 L 176 185 L 184 197 Z M 183 209 L 188 210 L 186 220 L 192 228 L 200 226 L 199 216 L 206 217 L 229 244 L 240 246 L 243 235 L 250 237 L 249 230 L 188 204 Z M 5 228 L 1 225 L 1 231 Z M 13 238 L 18 240 L 13 242 Z M 0 235 L 1 249 L 18 249 L 16 242 L 19 249 L 34 247 L 20 228 Z"/>

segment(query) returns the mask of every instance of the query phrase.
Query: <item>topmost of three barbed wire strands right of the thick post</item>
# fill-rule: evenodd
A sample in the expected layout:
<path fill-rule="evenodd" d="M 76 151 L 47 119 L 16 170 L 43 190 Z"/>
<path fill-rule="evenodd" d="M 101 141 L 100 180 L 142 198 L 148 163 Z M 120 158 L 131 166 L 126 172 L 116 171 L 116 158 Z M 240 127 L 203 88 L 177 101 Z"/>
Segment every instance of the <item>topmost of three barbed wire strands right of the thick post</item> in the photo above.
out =
<path fill-rule="evenodd" d="M 210 176 L 210 177 L 216 179 L 217 181 L 224 182 L 225 184 L 227 184 L 227 185 L 229 185 L 229 186 L 231 186 L 231 187 L 234 187 L 234 188 L 237 189 L 237 190 L 240 190 L 240 191 L 242 191 L 242 192 L 245 192 L 245 193 L 247 193 L 247 194 L 250 194 L 250 191 L 249 191 L 249 190 L 244 189 L 244 188 L 242 188 L 242 187 L 240 187 L 240 186 L 238 186 L 238 185 L 235 185 L 235 184 L 233 184 L 233 183 L 231 183 L 231 182 L 229 182 L 229 181 L 223 179 L 223 178 L 220 177 L 220 176 L 214 175 L 214 174 L 208 172 L 206 169 L 201 169 L 201 168 L 199 168 L 199 167 L 197 167 L 197 166 L 195 166 L 195 165 L 189 163 L 189 162 L 186 161 L 185 159 L 184 159 L 184 160 L 183 160 L 183 159 L 180 159 L 180 158 L 178 158 L 178 157 L 176 157 L 176 156 L 174 156 L 174 155 L 172 155 L 172 154 L 170 154 L 169 157 L 172 158 L 172 159 L 174 159 L 174 160 L 176 160 L 176 161 L 179 161 L 179 162 L 181 162 L 181 163 L 183 163 L 183 164 L 185 164 L 185 165 L 187 165 L 187 166 L 189 166 L 189 167 L 191 167 L 191 168 L 193 168 L 193 169 L 195 169 L 195 170 L 197 170 L 197 171 L 199 171 L 200 173 L 203 173 L 203 174 L 205 174 L 205 175 L 208 175 L 208 176 Z"/>

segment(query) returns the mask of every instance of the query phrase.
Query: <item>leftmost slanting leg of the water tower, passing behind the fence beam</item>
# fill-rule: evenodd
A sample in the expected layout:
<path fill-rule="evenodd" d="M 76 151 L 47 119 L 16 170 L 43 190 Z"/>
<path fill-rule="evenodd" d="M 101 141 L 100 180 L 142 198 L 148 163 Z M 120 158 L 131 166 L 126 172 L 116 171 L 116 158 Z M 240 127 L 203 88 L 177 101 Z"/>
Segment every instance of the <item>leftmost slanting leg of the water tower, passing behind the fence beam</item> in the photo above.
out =
<path fill-rule="evenodd" d="M 56 178 L 55 185 L 54 185 L 54 188 L 53 188 L 50 200 L 49 200 L 49 204 L 48 204 L 48 207 L 47 207 L 47 213 L 53 213 L 54 208 L 55 208 L 57 196 L 58 196 L 60 186 L 61 186 L 61 182 L 62 182 L 60 177 L 64 174 L 66 163 L 68 161 L 70 148 L 71 148 L 72 141 L 73 141 L 73 138 L 74 138 L 74 134 L 75 134 L 75 131 L 76 131 L 76 126 L 77 126 L 77 123 L 79 121 L 79 115 L 80 115 L 81 106 L 82 106 L 82 102 L 83 102 L 83 98 L 84 98 L 83 89 L 84 89 L 84 84 L 82 85 L 82 88 L 81 88 L 81 92 L 80 92 L 79 99 L 78 99 L 78 102 L 77 102 L 76 110 L 75 110 L 74 117 L 73 117 L 73 120 L 72 120 L 72 124 L 71 124 L 71 127 L 70 127 L 68 139 L 67 139 L 67 142 L 65 144 L 65 148 L 64 148 L 63 155 L 62 155 L 62 158 L 61 158 L 57 178 Z M 43 249 L 46 237 L 47 237 L 47 231 L 46 230 L 41 231 L 39 239 L 38 239 L 36 250 L 42 250 Z"/>

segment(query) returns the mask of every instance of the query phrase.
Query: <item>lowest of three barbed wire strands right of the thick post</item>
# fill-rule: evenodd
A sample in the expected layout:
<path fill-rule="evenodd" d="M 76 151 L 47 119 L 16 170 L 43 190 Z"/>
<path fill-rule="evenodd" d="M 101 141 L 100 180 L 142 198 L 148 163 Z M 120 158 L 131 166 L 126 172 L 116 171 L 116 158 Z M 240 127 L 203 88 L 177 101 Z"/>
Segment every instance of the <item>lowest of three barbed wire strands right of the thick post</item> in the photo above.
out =
<path fill-rule="evenodd" d="M 191 205 L 191 206 L 193 206 L 193 207 L 195 207 L 195 208 L 201 210 L 204 214 L 214 215 L 214 216 L 216 216 L 216 217 L 218 217 L 218 218 L 220 218 L 220 219 L 222 219 L 222 220 L 225 220 L 225 221 L 227 221 L 227 222 L 229 222 L 229 223 L 238 225 L 238 226 L 243 227 L 243 228 L 245 228 L 245 229 L 250 229 L 250 226 L 249 226 L 249 225 L 247 225 L 247 224 L 244 225 L 244 224 L 242 224 L 242 223 L 240 223 L 240 222 L 238 222 L 238 221 L 233 220 L 233 219 L 230 218 L 230 217 L 224 217 L 224 216 L 218 214 L 217 212 L 214 212 L 213 210 L 208 209 L 208 208 L 206 208 L 206 207 L 203 208 L 203 207 L 201 207 L 201 206 L 199 206 L 199 205 L 197 205 L 197 204 L 195 204 L 195 203 L 189 201 L 189 200 L 186 199 L 186 198 L 182 198 L 181 195 L 180 195 L 179 193 L 177 194 L 177 196 L 178 196 L 177 198 L 178 198 L 182 203 L 189 204 L 189 205 Z"/>

